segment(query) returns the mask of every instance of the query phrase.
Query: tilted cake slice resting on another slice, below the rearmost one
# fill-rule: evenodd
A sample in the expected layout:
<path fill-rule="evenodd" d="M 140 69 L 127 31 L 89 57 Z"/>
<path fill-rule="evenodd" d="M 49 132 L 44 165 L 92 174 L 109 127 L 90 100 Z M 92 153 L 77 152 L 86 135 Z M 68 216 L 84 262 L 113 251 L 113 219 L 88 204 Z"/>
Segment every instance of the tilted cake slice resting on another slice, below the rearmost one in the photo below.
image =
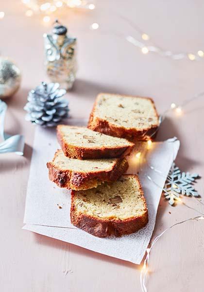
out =
<path fill-rule="evenodd" d="M 126 139 L 104 135 L 85 127 L 58 125 L 57 138 L 65 156 L 77 159 L 125 156 L 134 146 Z"/>

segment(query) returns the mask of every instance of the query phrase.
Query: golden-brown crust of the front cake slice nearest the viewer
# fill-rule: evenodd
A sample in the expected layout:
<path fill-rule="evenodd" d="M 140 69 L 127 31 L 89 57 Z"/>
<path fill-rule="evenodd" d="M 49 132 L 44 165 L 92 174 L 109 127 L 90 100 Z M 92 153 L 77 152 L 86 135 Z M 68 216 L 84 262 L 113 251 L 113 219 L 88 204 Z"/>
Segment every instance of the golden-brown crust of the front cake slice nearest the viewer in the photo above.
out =
<path fill-rule="evenodd" d="M 136 175 L 126 174 L 123 176 L 132 176 L 139 182 L 138 177 Z M 96 237 L 108 237 L 111 235 L 120 237 L 122 235 L 135 233 L 139 229 L 145 227 L 146 224 L 148 223 L 148 209 L 140 183 L 139 189 L 140 192 L 142 193 L 142 200 L 145 205 L 143 215 L 134 218 L 120 220 L 103 219 L 96 216 L 90 216 L 84 213 L 77 214 L 75 209 L 75 191 L 72 190 L 70 208 L 71 223 Z"/>

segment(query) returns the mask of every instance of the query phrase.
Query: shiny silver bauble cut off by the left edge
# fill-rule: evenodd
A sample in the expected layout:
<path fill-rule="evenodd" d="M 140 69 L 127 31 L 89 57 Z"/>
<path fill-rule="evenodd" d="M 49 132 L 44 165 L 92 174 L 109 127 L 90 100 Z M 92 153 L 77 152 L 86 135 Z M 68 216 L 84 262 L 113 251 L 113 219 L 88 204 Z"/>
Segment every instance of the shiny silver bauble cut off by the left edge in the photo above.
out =
<path fill-rule="evenodd" d="M 19 88 L 21 72 L 10 59 L 0 57 L 0 98 L 12 96 Z"/>

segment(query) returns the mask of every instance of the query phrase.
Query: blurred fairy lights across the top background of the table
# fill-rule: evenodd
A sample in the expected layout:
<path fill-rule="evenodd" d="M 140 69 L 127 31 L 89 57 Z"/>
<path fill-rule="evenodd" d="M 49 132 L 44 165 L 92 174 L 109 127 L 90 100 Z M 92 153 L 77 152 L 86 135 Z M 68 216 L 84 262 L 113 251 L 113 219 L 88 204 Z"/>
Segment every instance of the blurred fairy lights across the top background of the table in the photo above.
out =
<path fill-rule="evenodd" d="M 49 23 L 51 21 L 51 15 L 60 9 L 65 8 L 75 8 L 75 9 L 85 9 L 94 10 L 96 8 L 95 4 L 87 0 L 21 0 L 23 4 L 28 8 L 25 11 L 26 17 L 32 17 L 36 13 L 42 14 L 42 20 L 44 23 Z M 4 18 L 5 13 L 0 11 L 0 19 Z M 136 24 L 124 16 L 119 16 L 119 18 L 126 21 L 134 30 L 137 37 L 131 35 L 126 35 L 124 38 L 126 41 L 136 46 L 140 52 L 144 55 L 148 53 L 154 53 L 167 57 L 173 60 L 188 59 L 190 61 L 199 61 L 204 58 L 204 51 L 199 49 L 197 52 L 172 52 L 170 50 L 164 50 L 160 46 L 156 45 L 151 41 L 151 37 L 143 32 Z M 99 23 L 94 22 L 91 24 L 90 29 L 97 30 L 100 28 Z"/>

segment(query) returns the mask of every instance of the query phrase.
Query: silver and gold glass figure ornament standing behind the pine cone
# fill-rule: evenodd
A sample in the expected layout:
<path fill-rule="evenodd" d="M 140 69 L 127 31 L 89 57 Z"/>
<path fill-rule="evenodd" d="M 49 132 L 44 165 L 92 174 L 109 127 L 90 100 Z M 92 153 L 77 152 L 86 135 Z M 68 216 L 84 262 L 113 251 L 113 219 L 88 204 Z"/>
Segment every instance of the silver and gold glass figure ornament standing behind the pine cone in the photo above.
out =
<path fill-rule="evenodd" d="M 56 20 L 51 34 L 44 34 L 45 66 L 52 82 L 68 90 L 77 71 L 76 38 L 67 35 L 67 27 Z"/>

